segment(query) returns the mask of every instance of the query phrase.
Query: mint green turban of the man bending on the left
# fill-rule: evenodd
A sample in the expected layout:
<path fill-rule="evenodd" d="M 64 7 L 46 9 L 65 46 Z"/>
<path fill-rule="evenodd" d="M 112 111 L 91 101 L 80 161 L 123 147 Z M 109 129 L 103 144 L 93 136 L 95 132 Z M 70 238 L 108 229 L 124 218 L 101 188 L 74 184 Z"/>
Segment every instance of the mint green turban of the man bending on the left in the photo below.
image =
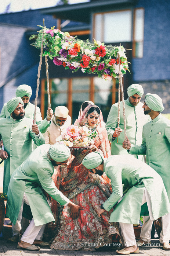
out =
<path fill-rule="evenodd" d="M 70 149 L 63 144 L 54 144 L 51 145 L 49 153 L 56 162 L 64 162 L 70 156 Z"/>

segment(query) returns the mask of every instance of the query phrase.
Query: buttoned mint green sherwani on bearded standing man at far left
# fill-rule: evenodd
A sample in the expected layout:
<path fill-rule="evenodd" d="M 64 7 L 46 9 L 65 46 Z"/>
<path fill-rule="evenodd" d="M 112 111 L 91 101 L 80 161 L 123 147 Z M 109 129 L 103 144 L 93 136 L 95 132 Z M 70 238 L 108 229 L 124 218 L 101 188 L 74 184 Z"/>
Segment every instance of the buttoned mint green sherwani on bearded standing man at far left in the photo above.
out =
<path fill-rule="evenodd" d="M 4 160 L 3 193 L 7 194 L 10 177 L 15 169 L 32 152 L 32 139 L 37 146 L 45 143 L 43 135 L 39 138 L 32 132 L 32 119 L 24 117 L 14 120 L 11 116 L 0 119 L 0 140 L 3 139 L 4 150 L 8 158 Z"/>

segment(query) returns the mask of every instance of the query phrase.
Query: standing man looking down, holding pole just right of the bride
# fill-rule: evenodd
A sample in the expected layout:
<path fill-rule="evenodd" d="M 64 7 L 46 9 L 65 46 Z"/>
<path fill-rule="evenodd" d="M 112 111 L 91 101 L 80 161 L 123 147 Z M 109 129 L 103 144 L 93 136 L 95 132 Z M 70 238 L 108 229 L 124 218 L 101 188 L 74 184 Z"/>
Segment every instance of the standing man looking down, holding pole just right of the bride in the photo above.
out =
<path fill-rule="evenodd" d="M 129 98 L 125 100 L 126 110 L 126 130 L 127 136 L 135 145 L 142 143 L 142 128 L 149 117 L 143 115 L 142 103 L 140 102 L 144 90 L 140 84 L 131 84 L 127 89 Z M 111 141 L 112 155 L 127 155 L 127 151 L 123 149 L 122 143 L 124 141 L 124 120 L 123 120 L 123 104 L 120 102 L 120 126 L 117 127 L 118 117 L 118 103 L 112 105 L 108 119 L 106 122 L 106 130 L 108 132 L 108 139 Z M 117 143 L 117 136 L 119 141 Z M 134 155 L 140 160 L 142 156 Z"/>

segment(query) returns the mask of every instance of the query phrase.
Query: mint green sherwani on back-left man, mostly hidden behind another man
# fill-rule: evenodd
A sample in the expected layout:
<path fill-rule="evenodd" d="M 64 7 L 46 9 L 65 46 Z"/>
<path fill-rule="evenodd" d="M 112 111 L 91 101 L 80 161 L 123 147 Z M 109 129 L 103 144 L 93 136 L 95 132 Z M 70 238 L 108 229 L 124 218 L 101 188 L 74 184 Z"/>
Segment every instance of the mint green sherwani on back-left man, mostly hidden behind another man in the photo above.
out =
<path fill-rule="evenodd" d="M 32 103 L 29 102 L 26 108 L 24 108 L 24 110 L 25 110 L 25 117 L 34 119 L 35 106 Z M 3 108 L 0 114 L 0 118 L 6 118 L 6 117 L 10 117 L 10 113 L 7 110 L 7 103 L 3 105 Z M 41 133 L 46 132 L 47 128 L 51 124 L 51 122 L 47 121 L 46 118 L 44 120 L 42 119 L 39 107 L 37 107 L 37 112 L 36 112 L 36 124 L 38 125 Z"/>

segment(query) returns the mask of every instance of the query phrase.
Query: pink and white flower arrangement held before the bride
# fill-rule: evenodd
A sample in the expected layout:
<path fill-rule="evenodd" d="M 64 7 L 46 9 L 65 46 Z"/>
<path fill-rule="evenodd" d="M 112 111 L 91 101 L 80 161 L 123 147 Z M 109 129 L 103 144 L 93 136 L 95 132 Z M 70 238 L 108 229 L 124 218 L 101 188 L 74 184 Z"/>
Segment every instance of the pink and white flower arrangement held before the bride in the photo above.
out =
<path fill-rule="evenodd" d="M 56 139 L 58 144 L 64 144 L 68 147 L 89 146 L 90 143 L 94 144 L 94 138 L 97 132 L 92 132 L 86 126 L 80 127 L 77 125 L 70 125 L 62 134 Z"/>

